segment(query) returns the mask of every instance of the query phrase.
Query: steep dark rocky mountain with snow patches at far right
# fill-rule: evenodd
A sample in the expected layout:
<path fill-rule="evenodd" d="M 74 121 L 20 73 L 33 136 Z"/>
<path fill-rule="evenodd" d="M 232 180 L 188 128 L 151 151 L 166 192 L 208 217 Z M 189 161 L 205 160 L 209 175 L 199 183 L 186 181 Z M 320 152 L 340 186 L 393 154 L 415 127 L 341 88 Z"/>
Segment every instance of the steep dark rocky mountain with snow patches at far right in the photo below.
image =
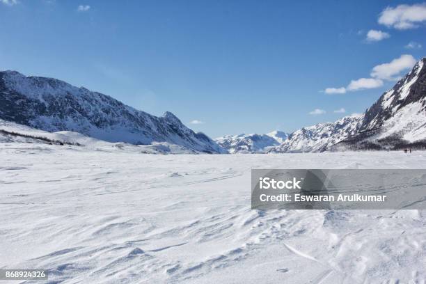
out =
<path fill-rule="evenodd" d="M 365 111 L 358 133 L 335 150 L 426 146 L 426 58 Z"/>

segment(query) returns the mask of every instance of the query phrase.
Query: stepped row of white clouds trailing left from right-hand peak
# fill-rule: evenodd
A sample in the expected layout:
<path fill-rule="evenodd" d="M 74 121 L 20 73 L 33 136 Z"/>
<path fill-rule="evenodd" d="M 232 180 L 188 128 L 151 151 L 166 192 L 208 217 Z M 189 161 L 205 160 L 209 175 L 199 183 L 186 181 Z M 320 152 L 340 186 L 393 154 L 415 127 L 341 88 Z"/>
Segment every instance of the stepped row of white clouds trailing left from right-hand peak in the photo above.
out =
<path fill-rule="evenodd" d="M 384 85 L 384 81 L 393 81 L 397 79 L 402 71 L 412 68 L 415 64 L 416 58 L 409 54 L 402 54 L 399 58 L 395 58 L 389 63 L 374 66 L 370 72 L 370 78 L 351 80 L 346 87 L 326 88 L 324 93 L 344 94 L 347 91 L 379 88 Z"/>

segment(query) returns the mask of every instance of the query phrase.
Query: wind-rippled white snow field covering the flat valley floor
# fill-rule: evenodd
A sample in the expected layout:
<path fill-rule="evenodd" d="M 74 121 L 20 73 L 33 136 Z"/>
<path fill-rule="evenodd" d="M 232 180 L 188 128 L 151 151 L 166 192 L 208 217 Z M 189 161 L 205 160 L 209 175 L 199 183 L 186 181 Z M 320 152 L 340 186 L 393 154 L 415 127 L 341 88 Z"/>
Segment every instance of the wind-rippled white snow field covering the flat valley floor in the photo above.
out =
<path fill-rule="evenodd" d="M 53 269 L 52 283 L 425 283 L 426 212 L 251 210 L 250 170 L 425 168 L 426 152 L 0 143 L 0 160 L 2 269 Z"/>

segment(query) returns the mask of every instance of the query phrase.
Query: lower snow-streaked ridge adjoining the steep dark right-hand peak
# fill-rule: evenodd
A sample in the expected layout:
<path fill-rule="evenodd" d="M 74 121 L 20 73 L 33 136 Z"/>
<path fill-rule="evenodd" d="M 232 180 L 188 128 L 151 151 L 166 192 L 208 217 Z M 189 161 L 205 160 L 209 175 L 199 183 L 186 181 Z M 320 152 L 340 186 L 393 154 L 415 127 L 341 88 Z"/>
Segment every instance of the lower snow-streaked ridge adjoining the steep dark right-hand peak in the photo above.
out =
<path fill-rule="evenodd" d="M 290 134 L 281 145 L 268 152 L 323 152 L 343 139 L 356 134 L 363 115 L 345 116 L 334 123 L 318 123 Z"/>

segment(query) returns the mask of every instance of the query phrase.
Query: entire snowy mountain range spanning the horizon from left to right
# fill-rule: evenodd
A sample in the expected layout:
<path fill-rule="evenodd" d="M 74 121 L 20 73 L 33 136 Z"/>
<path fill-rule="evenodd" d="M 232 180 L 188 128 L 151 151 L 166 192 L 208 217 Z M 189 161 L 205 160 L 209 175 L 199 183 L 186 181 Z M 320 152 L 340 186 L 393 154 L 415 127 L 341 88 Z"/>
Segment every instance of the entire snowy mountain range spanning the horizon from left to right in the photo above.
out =
<path fill-rule="evenodd" d="M 183 125 L 171 112 L 161 117 L 152 116 L 102 93 L 57 79 L 26 77 L 15 71 L 0 72 L 0 120 L 3 120 L 0 126 L 12 122 L 45 132 L 78 132 L 100 141 L 155 145 L 155 150 L 178 148 L 178 152 L 285 153 L 425 148 L 426 58 L 418 61 L 365 113 L 346 116 L 333 123 L 302 127 L 291 134 L 275 131 L 227 135 L 212 140 Z M 0 136 L 7 135 L 3 141 L 11 141 L 16 136 L 16 133 L 0 130 L 4 130 Z M 20 139 L 28 141 L 29 137 L 21 136 Z"/>

